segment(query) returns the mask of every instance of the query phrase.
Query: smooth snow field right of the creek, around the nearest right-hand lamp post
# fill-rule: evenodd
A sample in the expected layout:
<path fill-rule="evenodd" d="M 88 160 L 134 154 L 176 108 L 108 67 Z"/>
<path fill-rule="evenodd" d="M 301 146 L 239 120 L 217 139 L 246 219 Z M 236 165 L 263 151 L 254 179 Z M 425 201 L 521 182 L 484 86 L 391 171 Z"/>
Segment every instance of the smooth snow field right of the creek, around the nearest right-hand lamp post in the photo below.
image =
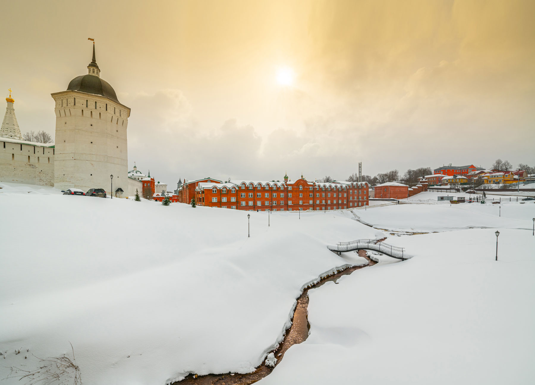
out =
<path fill-rule="evenodd" d="M 496 262 L 494 231 L 387 239 L 414 258 L 311 290 L 309 338 L 258 384 L 532 384 L 535 237 L 500 229 Z"/>

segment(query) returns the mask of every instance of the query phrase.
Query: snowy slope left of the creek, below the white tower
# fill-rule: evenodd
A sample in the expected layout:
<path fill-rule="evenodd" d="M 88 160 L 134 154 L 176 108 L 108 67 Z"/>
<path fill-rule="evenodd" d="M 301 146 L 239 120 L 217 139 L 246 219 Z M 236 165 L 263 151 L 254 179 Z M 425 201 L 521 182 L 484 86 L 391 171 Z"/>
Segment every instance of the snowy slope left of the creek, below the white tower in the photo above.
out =
<path fill-rule="evenodd" d="M 326 245 L 384 236 L 350 212 L 250 212 L 248 238 L 248 212 L 0 187 L 0 378 L 70 343 L 86 384 L 253 371 L 301 289 L 361 263 Z"/>

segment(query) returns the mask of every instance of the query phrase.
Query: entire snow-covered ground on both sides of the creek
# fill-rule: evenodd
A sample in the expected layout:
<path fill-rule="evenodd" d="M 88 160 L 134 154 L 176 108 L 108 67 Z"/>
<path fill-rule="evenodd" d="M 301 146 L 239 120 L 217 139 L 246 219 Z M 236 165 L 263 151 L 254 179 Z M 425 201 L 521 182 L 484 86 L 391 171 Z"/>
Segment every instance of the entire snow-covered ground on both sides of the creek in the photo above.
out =
<path fill-rule="evenodd" d="M 35 367 L 32 352 L 68 354 L 69 342 L 87 384 L 249 372 L 280 341 L 303 286 L 362 262 L 325 245 L 385 236 L 357 217 L 439 232 L 388 237 L 413 258 L 379 256 L 311 290 L 309 338 L 259 384 L 535 378 L 533 201 L 502 202 L 499 216 L 500 205 L 430 197 L 301 220 L 272 213 L 270 227 L 251 212 L 247 238 L 247 212 L 0 187 L 0 378 Z"/>

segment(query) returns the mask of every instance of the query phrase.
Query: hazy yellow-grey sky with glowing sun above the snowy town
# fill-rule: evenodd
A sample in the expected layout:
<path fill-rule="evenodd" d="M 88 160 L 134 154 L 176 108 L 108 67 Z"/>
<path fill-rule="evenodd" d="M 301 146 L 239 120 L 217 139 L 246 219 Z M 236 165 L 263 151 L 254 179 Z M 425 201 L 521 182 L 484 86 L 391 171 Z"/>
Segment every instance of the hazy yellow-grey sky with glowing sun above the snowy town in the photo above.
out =
<path fill-rule="evenodd" d="M 535 165 L 535 1 L 0 4 L 21 131 L 53 134 L 50 94 L 87 73 L 93 37 L 132 109 L 129 169 L 170 187 Z"/>

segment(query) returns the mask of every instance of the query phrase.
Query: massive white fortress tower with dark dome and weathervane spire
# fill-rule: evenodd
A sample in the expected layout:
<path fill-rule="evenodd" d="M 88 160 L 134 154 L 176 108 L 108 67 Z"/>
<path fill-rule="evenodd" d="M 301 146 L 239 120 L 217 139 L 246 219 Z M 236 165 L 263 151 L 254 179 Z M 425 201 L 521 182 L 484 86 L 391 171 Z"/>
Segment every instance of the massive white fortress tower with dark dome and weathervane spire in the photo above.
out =
<path fill-rule="evenodd" d="M 51 94 L 56 102 L 54 186 L 83 191 L 102 187 L 108 195 L 125 198 L 130 109 L 117 100 L 113 88 L 100 78 L 95 42 L 93 60 L 87 69 L 88 74 L 72 79 L 66 91 Z"/>

